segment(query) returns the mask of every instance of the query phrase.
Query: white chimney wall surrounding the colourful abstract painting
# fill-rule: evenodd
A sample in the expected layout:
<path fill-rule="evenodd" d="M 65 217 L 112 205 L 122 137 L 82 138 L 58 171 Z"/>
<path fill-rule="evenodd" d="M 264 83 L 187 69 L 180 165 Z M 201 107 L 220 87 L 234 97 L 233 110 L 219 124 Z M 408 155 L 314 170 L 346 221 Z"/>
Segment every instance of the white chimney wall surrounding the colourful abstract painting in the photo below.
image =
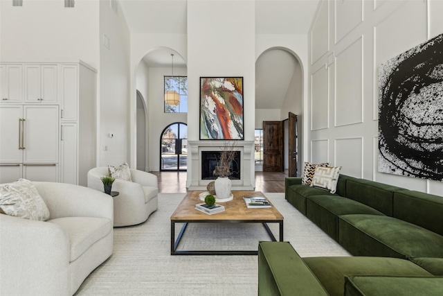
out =
<path fill-rule="evenodd" d="M 199 78 L 244 78 L 244 139 L 254 140 L 254 1 L 188 1 L 188 138 L 199 140 Z M 193 156 L 191 156 L 193 157 Z M 253 162 L 251 176 L 254 180 Z M 198 170 L 195 170 L 198 171 Z M 192 178 L 188 162 L 187 186 Z M 252 181 L 251 181 L 252 182 Z"/>

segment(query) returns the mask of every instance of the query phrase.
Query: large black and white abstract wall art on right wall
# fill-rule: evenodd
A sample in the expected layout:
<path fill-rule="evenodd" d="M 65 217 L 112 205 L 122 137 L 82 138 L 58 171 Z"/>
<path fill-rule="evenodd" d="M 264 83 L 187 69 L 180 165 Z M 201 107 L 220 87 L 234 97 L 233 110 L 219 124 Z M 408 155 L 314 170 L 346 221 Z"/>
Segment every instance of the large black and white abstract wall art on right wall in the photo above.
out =
<path fill-rule="evenodd" d="M 443 34 L 379 67 L 379 172 L 443 180 Z"/>

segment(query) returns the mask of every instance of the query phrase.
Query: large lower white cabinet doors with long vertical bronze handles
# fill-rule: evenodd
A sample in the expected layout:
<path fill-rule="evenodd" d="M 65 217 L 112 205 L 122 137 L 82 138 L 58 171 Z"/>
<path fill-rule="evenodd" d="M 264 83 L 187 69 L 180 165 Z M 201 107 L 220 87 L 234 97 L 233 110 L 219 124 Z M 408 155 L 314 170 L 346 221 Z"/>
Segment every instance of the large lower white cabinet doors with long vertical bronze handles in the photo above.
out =
<path fill-rule="evenodd" d="M 58 105 L 0 106 L 0 183 L 58 181 Z"/>

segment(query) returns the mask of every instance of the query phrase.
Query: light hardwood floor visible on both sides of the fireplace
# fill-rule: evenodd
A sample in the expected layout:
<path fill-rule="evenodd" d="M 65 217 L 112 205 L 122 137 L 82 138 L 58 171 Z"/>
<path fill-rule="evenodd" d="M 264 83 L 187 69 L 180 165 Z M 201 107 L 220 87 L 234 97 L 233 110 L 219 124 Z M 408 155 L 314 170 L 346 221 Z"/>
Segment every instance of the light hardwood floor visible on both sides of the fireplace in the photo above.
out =
<path fill-rule="evenodd" d="M 186 192 L 186 172 L 150 172 L 159 178 L 159 192 Z M 284 192 L 284 172 L 255 172 L 255 191 Z"/>

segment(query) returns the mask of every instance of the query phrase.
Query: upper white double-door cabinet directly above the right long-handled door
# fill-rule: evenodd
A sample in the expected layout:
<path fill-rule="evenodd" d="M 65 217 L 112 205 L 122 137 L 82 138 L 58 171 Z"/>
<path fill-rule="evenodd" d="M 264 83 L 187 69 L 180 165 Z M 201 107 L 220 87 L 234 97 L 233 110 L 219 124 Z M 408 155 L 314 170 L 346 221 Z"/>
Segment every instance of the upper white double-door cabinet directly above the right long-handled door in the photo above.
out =
<path fill-rule="evenodd" d="M 26 103 L 57 103 L 57 65 L 25 64 Z"/>

